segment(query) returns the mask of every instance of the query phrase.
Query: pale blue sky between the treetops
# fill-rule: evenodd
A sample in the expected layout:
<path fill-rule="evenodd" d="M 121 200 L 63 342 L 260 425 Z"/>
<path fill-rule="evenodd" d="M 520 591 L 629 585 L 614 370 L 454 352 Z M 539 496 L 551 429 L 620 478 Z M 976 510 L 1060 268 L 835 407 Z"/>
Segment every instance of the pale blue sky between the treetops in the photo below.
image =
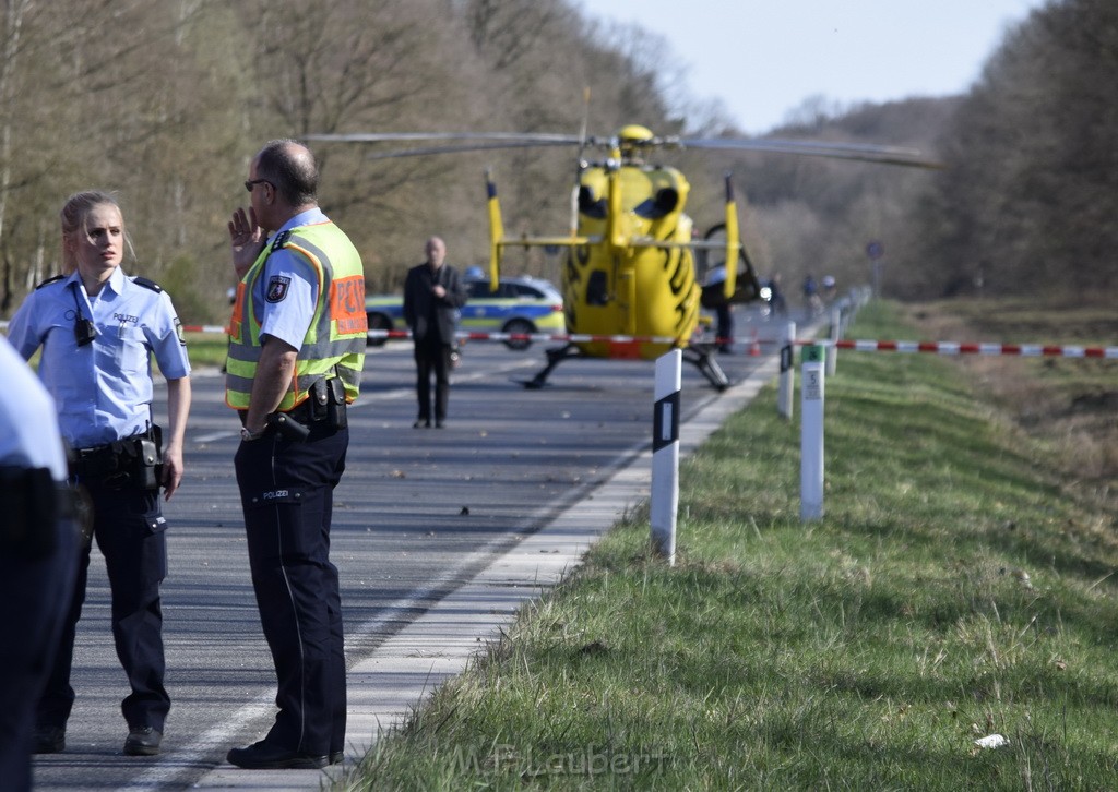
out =
<path fill-rule="evenodd" d="M 963 94 L 1008 26 L 1045 0 L 580 0 L 588 18 L 663 36 L 700 101 L 743 131 L 804 99 Z"/>

